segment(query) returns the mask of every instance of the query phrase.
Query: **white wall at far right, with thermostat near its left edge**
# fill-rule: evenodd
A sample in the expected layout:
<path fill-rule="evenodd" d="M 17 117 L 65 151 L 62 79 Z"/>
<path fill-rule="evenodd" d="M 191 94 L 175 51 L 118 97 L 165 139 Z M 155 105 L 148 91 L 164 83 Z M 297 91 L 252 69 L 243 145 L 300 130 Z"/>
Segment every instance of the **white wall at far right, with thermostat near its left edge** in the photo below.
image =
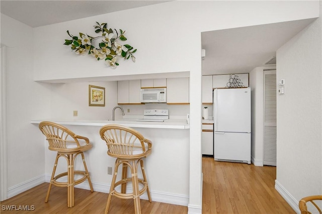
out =
<path fill-rule="evenodd" d="M 319 7 L 321 10 L 321 6 Z M 289 203 L 322 194 L 321 18 L 277 51 L 276 186 L 289 193 Z"/>

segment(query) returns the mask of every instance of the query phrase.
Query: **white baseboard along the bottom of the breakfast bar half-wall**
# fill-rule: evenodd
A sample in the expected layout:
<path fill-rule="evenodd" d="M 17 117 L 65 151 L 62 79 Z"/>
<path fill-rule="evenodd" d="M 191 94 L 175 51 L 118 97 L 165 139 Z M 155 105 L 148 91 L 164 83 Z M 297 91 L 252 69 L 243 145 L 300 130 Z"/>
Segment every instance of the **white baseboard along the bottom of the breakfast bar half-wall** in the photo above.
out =
<path fill-rule="evenodd" d="M 49 182 L 50 178 L 51 178 L 51 175 L 46 174 L 45 181 Z M 65 177 L 62 177 L 60 179 L 63 182 L 67 182 L 67 179 Z M 93 185 L 94 191 L 105 192 L 105 193 L 109 193 L 110 187 L 111 187 L 110 184 L 97 183 L 97 182 L 93 182 L 93 181 L 92 181 L 92 185 Z M 75 185 L 75 187 L 90 190 L 90 185 L 87 180 L 84 181 L 83 183 L 79 183 L 79 184 Z M 116 188 L 116 190 L 120 191 L 121 189 L 118 187 Z M 127 188 L 127 191 L 131 192 L 132 188 Z M 152 201 L 158 201 L 158 202 L 162 202 L 162 203 L 171 203 L 171 204 L 182 205 L 182 206 L 188 206 L 188 203 L 189 203 L 189 195 L 178 195 L 178 194 L 171 194 L 171 193 L 167 193 L 167 192 L 157 192 L 157 191 L 151 191 L 151 190 L 150 190 L 150 195 L 151 195 Z M 140 196 L 140 198 L 144 199 L 144 200 L 148 199 L 146 193 L 142 194 Z"/>

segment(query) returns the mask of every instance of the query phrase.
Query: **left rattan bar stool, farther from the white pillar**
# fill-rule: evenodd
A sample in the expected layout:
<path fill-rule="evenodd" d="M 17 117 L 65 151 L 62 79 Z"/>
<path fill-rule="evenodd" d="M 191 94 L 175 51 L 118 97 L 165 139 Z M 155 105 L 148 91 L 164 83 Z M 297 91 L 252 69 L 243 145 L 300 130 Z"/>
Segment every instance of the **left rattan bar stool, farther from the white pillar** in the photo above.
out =
<path fill-rule="evenodd" d="M 91 191 L 93 192 L 91 178 L 83 153 L 83 151 L 92 148 L 93 145 L 87 137 L 76 135 L 66 127 L 53 122 L 43 121 L 39 124 L 39 129 L 46 136 L 46 140 L 49 143 L 49 150 L 57 152 L 45 202 L 48 202 L 51 186 L 53 184 L 59 187 L 67 187 L 67 206 L 72 207 L 74 205 L 74 185 L 82 183 L 88 179 Z M 74 170 L 74 161 L 78 154 L 82 155 L 85 171 Z M 66 159 L 67 172 L 63 172 L 55 176 L 59 157 L 64 157 Z M 83 176 L 75 180 L 75 174 Z M 67 182 L 57 181 L 58 178 L 64 176 L 67 176 Z"/>

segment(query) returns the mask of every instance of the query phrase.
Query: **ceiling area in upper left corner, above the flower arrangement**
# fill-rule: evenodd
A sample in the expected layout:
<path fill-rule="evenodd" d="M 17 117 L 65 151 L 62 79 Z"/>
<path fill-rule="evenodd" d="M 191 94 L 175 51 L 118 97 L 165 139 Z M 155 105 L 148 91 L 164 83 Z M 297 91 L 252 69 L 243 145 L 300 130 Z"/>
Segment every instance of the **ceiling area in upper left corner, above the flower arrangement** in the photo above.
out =
<path fill-rule="evenodd" d="M 1 0 L 1 13 L 30 27 L 124 11 L 169 1 L 8 1 Z"/>

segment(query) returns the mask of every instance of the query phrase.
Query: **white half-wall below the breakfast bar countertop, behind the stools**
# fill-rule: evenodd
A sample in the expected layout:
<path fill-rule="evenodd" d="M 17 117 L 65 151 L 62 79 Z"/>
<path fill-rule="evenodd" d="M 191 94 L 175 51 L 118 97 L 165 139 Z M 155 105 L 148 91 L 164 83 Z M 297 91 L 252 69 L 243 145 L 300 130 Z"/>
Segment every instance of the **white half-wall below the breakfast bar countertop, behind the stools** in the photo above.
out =
<path fill-rule="evenodd" d="M 99 135 L 100 126 L 66 125 L 73 132 L 87 136 L 93 148 L 85 152 L 94 191 L 108 192 L 112 175 L 107 173 L 108 166 L 115 166 L 115 158 L 107 154 L 106 142 Z M 144 158 L 144 169 L 153 201 L 188 205 L 189 201 L 189 129 L 136 128 L 153 143 L 152 153 Z M 46 149 L 46 181 L 50 181 L 56 152 Z M 76 157 L 75 170 L 84 170 L 82 158 Z M 121 167 L 121 166 L 120 166 Z M 121 179 L 119 168 L 118 178 Z M 66 170 L 64 158 L 58 161 L 56 174 Z M 130 173 L 130 172 L 129 172 Z M 138 177 L 142 178 L 141 170 Z M 65 178 L 66 180 L 66 178 Z M 79 184 L 77 188 L 89 189 L 88 182 Z M 127 187 L 131 190 L 131 185 Z M 130 192 L 130 191 L 128 191 Z M 146 193 L 141 197 L 147 199 Z"/>

